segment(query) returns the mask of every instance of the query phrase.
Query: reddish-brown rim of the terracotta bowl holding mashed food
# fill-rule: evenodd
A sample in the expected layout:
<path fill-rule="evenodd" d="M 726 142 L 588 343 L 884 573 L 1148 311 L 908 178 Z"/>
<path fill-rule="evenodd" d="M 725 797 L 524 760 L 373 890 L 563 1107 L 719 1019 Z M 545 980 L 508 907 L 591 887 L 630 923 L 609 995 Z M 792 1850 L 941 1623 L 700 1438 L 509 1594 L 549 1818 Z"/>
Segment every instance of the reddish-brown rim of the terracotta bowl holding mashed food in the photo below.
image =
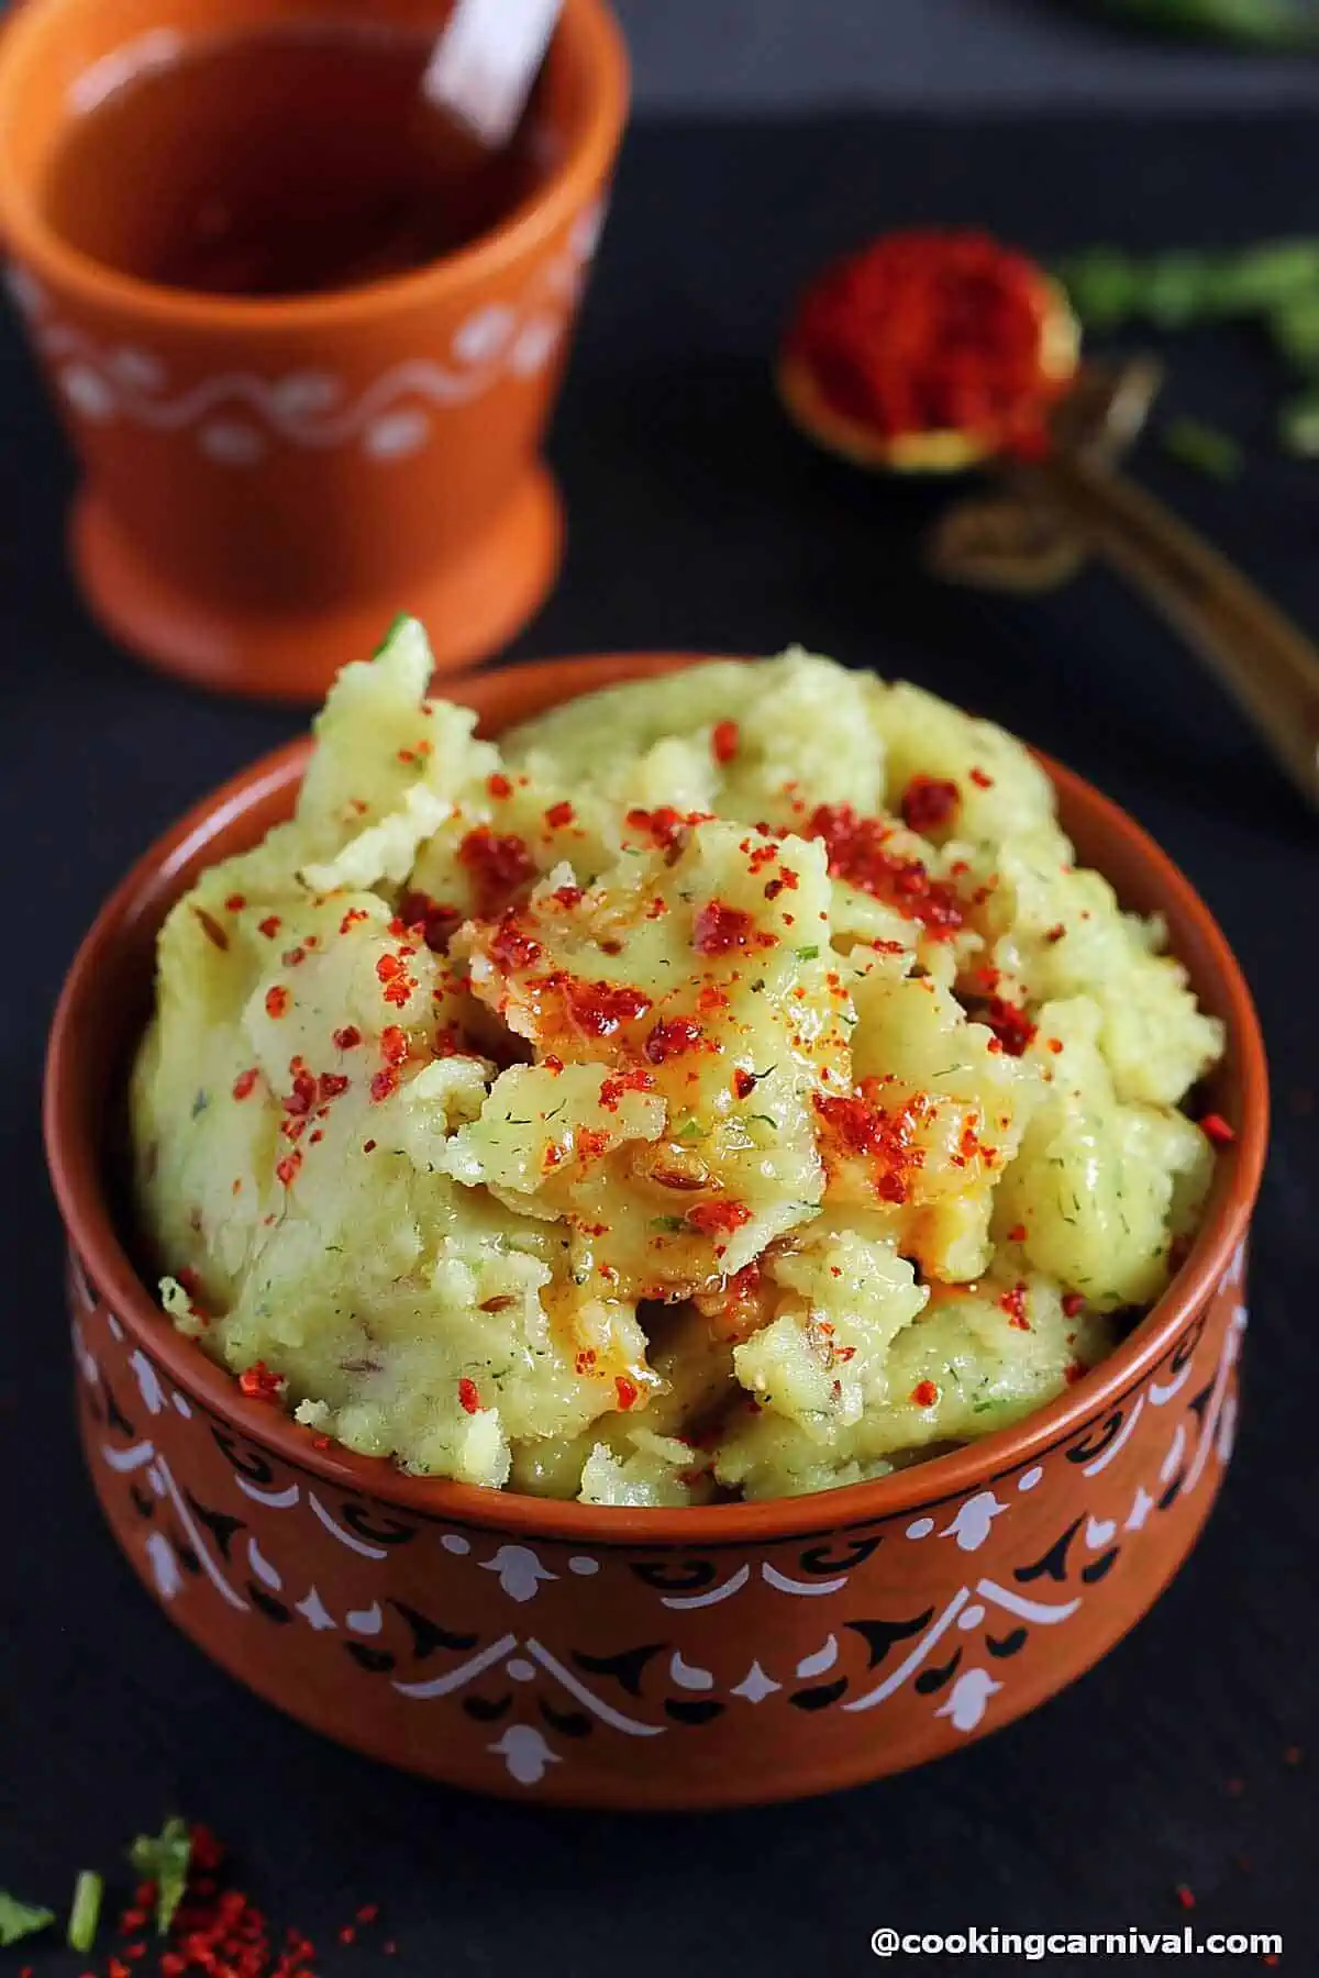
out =
<path fill-rule="evenodd" d="M 484 676 L 447 682 L 463 698 L 465 688 L 483 684 L 496 700 L 490 730 L 498 734 L 514 726 L 526 712 L 522 690 L 534 678 L 554 676 L 556 690 L 534 698 L 534 712 L 619 680 L 639 678 L 657 671 L 680 671 L 710 659 L 706 653 L 611 653 L 564 661 L 530 661 L 498 669 Z M 562 688 L 562 690 L 558 690 Z M 483 726 L 486 716 L 483 716 Z M 356 1456 L 332 1444 L 312 1446 L 310 1430 L 303 1428 L 283 1408 L 249 1400 L 239 1393 L 233 1375 L 212 1361 L 202 1347 L 174 1329 L 156 1305 L 125 1244 L 119 1238 L 103 1175 L 97 1141 L 99 1122 L 91 1108 L 79 1104 L 69 1060 L 73 1036 L 95 1021 L 95 1009 L 115 993 L 117 949 L 125 934 L 136 928 L 146 896 L 182 864 L 218 829 L 257 801 L 297 787 L 310 736 L 303 736 L 259 758 L 220 789 L 196 803 L 172 831 L 164 833 L 136 860 L 97 914 L 65 977 L 55 1009 L 45 1058 L 44 1135 L 45 1159 L 55 1197 L 79 1258 L 93 1284 L 105 1294 L 117 1315 L 136 1333 L 138 1341 L 168 1369 L 170 1377 L 212 1414 L 235 1428 L 247 1442 L 277 1454 L 295 1470 L 312 1474 L 354 1495 L 368 1495 L 394 1509 L 411 1511 L 433 1521 L 514 1533 L 536 1539 L 633 1547 L 692 1547 L 720 1549 L 746 1541 L 797 1539 L 831 1533 L 844 1527 L 874 1523 L 902 1511 L 931 1507 L 975 1484 L 991 1484 L 1009 1470 L 1042 1456 L 1084 1420 L 1101 1414 L 1135 1387 L 1171 1349 L 1194 1311 L 1208 1300 L 1226 1276 L 1242 1244 L 1264 1171 L 1268 1141 L 1268 1066 L 1256 1009 L 1246 979 L 1236 963 L 1216 920 L 1159 845 L 1127 817 L 1127 813 L 1076 771 L 1054 762 L 1042 750 L 1032 750 L 1060 795 L 1084 807 L 1088 821 L 1107 839 L 1121 839 L 1139 858 L 1163 904 L 1194 924 L 1208 975 L 1206 987 L 1216 991 L 1210 1001 L 1228 1027 L 1230 1108 L 1240 1120 L 1232 1145 L 1218 1149 L 1218 1171 L 1210 1205 L 1196 1230 L 1190 1254 L 1167 1292 L 1151 1305 L 1107 1359 L 1099 1361 L 1074 1387 L 1020 1422 L 999 1428 L 979 1442 L 969 1442 L 945 1456 L 931 1456 L 868 1484 L 846 1484 L 835 1489 L 811 1491 L 799 1497 L 757 1497 L 716 1505 L 625 1507 L 591 1505 L 577 1499 L 532 1497 L 522 1491 L 486 1489 L 475 1484 L 453 1484 L 445 1478 L 407 1476 L 382 1456 Z"/>

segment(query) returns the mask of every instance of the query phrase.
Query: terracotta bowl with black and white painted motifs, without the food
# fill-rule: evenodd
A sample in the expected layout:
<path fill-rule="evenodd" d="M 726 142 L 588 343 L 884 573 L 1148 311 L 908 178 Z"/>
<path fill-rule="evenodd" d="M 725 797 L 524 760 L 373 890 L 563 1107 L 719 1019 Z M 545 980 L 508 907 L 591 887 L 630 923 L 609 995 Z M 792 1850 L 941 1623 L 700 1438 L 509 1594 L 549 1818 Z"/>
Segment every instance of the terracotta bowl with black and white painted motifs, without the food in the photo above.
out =
<path fill-rule="evenodd" d="M 560 661 L 451 692 L 498 732 L 684 663 Z M 178 1626 L 261 1697 L 392 1764 L 625 1808 L 876 1778 L 1098 1662 L 1222 1480 L 1268 1127 L 1246 983 L 1181 872 L 1048 764 L 1082 856 L 1167 916 L 1230 1038 L 1212 1100 L 1236 1143 L 1190 1258 L 1111 1359 L 1018 1428 L 878 1484 L 678 1511 L 548 1503 L 314 1448 L 172 1331 L 117 1222 L 107 1122 L 160 920 L 202 866 L 289 813 L 305 762 L 307 744 L 265 758 L 146 853 L 83 944 L 49 1046 L 83 1444 L 115 1537 Z"/>

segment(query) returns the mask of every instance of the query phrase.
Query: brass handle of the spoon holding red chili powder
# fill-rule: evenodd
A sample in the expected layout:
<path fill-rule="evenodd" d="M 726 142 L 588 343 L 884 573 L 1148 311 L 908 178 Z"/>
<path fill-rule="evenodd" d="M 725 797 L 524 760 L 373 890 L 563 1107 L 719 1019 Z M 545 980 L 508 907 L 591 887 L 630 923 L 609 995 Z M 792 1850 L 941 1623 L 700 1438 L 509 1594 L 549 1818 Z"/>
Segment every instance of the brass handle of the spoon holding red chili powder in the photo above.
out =
<path fill-rule="evenodd" d="M 1066 449 L 1030 473 L 1214 671 L 1311 809 L 1319 809 L 1313 641 L 1226 556 L 1125 475 Z"/>

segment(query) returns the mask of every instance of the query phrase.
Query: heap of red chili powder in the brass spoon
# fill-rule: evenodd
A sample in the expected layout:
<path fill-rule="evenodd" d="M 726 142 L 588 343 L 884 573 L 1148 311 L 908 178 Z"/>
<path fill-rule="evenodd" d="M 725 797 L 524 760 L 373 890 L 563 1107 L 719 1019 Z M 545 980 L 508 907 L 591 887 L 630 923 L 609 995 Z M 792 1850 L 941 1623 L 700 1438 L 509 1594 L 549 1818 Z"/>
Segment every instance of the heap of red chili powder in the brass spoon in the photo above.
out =
<path fill-rule="evenodd" d="M 835 411 L 888 439 L 969 431 L 1038 455 L 1060 390 L 1040 364 L 1048 311 L 1026 255 L 973 229 L 908 227 L 811 283 L 785 356 Z"/>

